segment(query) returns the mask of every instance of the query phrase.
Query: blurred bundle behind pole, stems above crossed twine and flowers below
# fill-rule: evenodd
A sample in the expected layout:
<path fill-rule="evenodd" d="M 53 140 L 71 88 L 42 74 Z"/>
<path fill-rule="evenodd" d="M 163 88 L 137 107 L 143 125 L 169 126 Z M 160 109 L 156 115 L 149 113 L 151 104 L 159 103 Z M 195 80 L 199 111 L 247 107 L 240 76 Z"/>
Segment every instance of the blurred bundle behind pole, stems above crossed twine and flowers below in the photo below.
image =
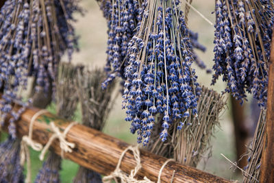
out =
<path fill-rule="evenodd" d="M 71 120 L 77 109 L 77 92 L 75 89 L 75 75 L 77 67 L 64 62 L 60 63 L 56 90 L 56 108 L 59 117 Z M 59 171 L 61 157 L 51 151 L 42 168 L 36 176 L 35 182 L 60 182 Z"/>

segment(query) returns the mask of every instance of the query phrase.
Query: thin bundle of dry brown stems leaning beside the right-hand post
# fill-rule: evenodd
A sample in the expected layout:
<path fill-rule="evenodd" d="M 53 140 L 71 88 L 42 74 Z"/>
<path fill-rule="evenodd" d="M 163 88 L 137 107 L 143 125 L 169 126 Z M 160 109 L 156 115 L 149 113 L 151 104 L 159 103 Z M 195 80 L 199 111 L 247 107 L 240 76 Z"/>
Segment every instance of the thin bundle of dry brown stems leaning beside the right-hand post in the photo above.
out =
<path fill-rule="evenodd" d="M 266 123 L 266 110 L 261 110 L 260 118 L 258 120 L 256 132 L 253 136 L 253 141 L 249 145 L 249 156 L 247 167 L 245 167 L 246 173 L 243 173 L 243 182 L 258 182 L 260 177 L 260 166 L 262 158 L 262 149 L 264 146 L 264 125 Z"/>

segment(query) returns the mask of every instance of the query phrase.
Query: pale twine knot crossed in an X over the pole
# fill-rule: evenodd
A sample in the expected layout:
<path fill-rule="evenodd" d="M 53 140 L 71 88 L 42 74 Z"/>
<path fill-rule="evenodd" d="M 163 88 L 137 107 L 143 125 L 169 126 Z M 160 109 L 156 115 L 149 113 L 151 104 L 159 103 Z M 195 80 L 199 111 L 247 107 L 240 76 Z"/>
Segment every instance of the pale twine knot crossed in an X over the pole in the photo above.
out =
<path fill-rule="evenodd" d="M 66 141 L 66 134 L 69 132 L 69 130 L 71 130 L 71 127 L 73 127 L 76 124 L 77 124 L 76 121 L 73 123 L 70 123 L 66 127 L 64 132 L 60 132 L 59 128 L 56 127 L 55 124 L 51 121 L 50 126 L 51 126 L 51 130 L 53 130 L 54 134 L 51 136 L 51 138 L 49 138 L 49 141 L 47 142 L 45 147 L 42 149 L 39 159 L 41 161 L 44 160 L 45 154 L 46 154 L 47 150 L 49 149 L 49 147 L 51 146 L 51 144 L 53 143 L 53 141 L 55 140 L 55 138 L 58 138 L 60 141 L 61 157 L 62 158 L 64 158 L 64 152 L 71 153 L 73 151 L 73 148 L 75 147 L 75 143 L 69 143 L 68 141 Z"/>

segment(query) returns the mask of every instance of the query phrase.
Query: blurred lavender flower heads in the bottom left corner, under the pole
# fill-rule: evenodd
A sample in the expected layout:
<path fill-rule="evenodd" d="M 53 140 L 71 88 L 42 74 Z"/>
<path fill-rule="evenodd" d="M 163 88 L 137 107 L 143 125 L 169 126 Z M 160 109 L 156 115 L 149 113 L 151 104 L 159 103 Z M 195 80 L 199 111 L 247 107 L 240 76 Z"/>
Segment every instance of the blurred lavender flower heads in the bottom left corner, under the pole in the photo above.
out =
<path fill-rule="evenodd" d="M 0 144 L 0 182 L 24 182 L 23 167 L 20 164 L 20 141 L 11 136 Z"/>

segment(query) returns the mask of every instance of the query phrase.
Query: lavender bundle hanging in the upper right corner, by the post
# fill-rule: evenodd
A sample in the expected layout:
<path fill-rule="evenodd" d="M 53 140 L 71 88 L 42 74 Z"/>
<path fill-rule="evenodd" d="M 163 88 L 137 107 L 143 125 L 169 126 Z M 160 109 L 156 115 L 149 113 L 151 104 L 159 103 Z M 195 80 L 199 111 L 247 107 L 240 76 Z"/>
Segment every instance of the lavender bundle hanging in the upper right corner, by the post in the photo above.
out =
<path fill-rule="evenodd" d="M 212 84 L 220 75 L 225 92 L 243 102 L 252 93 L 265 107 L 274 11 L 270 1 L 216 0 Z"/>

